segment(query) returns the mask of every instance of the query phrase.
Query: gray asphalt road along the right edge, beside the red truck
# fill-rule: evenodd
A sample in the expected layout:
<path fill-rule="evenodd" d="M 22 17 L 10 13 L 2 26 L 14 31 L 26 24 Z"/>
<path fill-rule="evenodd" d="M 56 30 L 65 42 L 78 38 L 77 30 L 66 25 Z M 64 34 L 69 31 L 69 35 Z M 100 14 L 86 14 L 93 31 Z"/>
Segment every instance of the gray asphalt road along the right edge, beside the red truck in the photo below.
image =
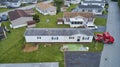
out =
<path fill-rule="evenodd" d="M 117 2 L 109 2 L 108 11 L 106 31 L 115 38 L 115 42 L 104 44 L 100 67 L 120 67 L 120 9 Z"/>

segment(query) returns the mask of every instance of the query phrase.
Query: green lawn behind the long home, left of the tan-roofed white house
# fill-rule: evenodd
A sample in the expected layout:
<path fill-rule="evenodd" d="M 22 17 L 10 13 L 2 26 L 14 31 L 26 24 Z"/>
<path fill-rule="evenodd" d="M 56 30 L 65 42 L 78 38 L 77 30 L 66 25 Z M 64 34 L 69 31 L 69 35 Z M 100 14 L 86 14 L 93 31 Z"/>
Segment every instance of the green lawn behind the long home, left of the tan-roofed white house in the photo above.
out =
<path fill-rule="evenodd" d="M 44 16 L 37 11 L 36 13 L 40 16 L 40 22 L 36 24 L 37 28 L 69 28 L 70 27 L 69 25 L 65 25 L 65 24 L 57 24 L 57 19 L 63 17 L 62 12 L 53 16 L 50 15 Z"/>

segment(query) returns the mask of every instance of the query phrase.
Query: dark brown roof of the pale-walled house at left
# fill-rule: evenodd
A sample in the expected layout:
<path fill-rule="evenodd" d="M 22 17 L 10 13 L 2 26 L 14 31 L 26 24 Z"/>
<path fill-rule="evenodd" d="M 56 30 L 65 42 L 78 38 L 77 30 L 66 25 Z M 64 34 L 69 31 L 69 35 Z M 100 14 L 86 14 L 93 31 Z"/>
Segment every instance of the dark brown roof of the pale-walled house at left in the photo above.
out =
<path fill-rule="evenodd" d="M 15 10 L 8 12 L 9 18 L 11 21 L 18 19 L 20 17 L 31 17 L 27 13 L 25 13 L 23 10 Z"/>

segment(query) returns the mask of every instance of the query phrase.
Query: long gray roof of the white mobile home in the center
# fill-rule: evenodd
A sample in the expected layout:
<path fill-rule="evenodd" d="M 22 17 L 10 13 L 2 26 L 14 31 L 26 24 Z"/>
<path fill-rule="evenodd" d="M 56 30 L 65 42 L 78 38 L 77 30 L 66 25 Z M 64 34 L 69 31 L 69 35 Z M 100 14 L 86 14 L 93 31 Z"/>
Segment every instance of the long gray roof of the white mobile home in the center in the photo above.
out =
<path fill-rule="evenodd" d="M 27 28 L 25 36 L 69 36 L 83 34 L 93 36 L 92 30 L 81 28 Z"/>

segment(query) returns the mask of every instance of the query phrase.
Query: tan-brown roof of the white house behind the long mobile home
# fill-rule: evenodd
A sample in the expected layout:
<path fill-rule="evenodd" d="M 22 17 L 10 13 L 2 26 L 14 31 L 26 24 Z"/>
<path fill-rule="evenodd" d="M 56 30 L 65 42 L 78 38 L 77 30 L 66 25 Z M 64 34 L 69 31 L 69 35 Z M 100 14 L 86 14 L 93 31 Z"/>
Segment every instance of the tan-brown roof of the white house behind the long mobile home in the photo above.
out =
<path fill-rule="evenodd" d="M 77 17 L 77 16 L 82 16 L 85 18 L 94 18 L 95 17 L 95 15 L 90 12 L 64 12 L 65 18 L 72 18 L 72 17 Z"/>

